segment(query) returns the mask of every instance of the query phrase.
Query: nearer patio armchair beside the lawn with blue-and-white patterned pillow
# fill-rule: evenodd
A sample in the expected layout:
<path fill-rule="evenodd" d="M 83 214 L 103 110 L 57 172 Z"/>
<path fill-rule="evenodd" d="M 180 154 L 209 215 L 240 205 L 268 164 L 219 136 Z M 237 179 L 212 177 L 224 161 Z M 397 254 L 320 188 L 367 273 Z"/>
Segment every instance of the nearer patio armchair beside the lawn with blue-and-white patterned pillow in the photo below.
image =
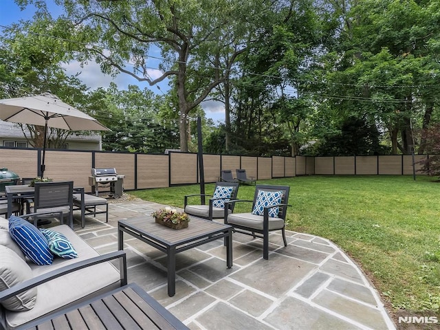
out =
<path fill-rule="evenodd" d="M 225 223 L 232 225 L 235 232 L 241 232 L 263 239 L 263 258 L 269 259 L 269 232 L 281 230 L 284 246 L 287 246 L 285 219 L 289 201 L 289 186 L 256 185 L 254 200 L 230 200 L 225 203 L 225 210 L 230 204 L 252 202 L 252 212 L 225 212 Z M 258 234 L 256 234 L 258 233 Z"/>

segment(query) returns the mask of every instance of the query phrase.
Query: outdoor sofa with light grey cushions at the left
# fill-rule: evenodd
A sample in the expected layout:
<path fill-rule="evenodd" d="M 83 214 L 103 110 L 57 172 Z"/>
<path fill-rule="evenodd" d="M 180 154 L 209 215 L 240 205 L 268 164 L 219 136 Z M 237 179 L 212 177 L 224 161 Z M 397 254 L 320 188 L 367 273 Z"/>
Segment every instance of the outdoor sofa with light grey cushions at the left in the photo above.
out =
<path fill-rule="evenodd" d="M 37 318 L 126 285 L 123 251 L 100 255 L 69 225 L 62 224 L 50 229 L 63 234 L 77 256 L 54 256 L 52 264 L 37 265 L 12 239 L 8 225 L 9 221 L 0 217 L 0 329 L 25 329 Z M 111 263 L 118 259 L 119 269 Z M 35 287 L 35 283 L 41 284 Z M 33 288 L 17 294 L 23 287 Z M 11 293 L 17 298 L 5 300 Z"/>

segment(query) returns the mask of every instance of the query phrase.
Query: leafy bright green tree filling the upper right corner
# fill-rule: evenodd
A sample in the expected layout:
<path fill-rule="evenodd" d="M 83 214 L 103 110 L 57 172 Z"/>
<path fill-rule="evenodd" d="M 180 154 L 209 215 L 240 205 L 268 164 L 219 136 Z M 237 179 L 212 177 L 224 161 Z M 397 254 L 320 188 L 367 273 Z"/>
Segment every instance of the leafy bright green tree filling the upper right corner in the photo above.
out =
<path fill-rule="evenodd" d="M 358 115 L 386 130 L 393 153 L 410 153 L 412 123 L 426 126 L 438 107 L 438 1 L 329 1 L 340 17 L 322 61 L 320 104 L 340 118 Z M 423 124 L 422 124 L 423 122 Z"/>

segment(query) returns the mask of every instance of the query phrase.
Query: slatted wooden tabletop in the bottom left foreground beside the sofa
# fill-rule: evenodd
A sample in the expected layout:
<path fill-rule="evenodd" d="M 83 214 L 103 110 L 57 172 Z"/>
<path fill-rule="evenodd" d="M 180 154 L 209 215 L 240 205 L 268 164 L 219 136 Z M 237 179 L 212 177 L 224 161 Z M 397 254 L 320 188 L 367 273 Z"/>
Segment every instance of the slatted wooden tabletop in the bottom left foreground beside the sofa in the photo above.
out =
<path fill-rule="evenodd" d="M 135 283 L 91 298 L 23 329 L 163 329 L 188 327 Z"/>

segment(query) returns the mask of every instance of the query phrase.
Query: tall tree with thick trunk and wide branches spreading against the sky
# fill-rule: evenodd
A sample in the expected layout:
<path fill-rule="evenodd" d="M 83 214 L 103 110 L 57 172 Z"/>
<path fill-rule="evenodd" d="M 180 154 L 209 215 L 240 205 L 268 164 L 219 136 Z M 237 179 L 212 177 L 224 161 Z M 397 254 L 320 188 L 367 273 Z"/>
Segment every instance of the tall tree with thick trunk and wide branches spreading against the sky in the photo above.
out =
<path fill-rule="evenodd" d="M 16 1 L 21 5 L 37 3 L 45 10 L 43 0 Z M 71 39 L 80 42 L 76 44 L 78 59 L 94 58 L 104 72 L 124 72 L 150 85 L 170 80 L 178 99 L 182 151 L 188 150 L 186 117 L 225 79 L 246 47 L 243 37 L 252 39 L 258 19 L 270 6 L 264 0 L 55 2 L 66 10 L 59 19 L 75 35 Z M 242 19 L 243 12 L 248 19 Z M 222 33 L 225 27 L 228 36 Z M 219 62 L 223 48 L 230 54 L 225 67 Z M 160 55 L 153 58 L 155 50 Z M 148 67 L 157 59 L 162 74 L 152 78 Z"/>

